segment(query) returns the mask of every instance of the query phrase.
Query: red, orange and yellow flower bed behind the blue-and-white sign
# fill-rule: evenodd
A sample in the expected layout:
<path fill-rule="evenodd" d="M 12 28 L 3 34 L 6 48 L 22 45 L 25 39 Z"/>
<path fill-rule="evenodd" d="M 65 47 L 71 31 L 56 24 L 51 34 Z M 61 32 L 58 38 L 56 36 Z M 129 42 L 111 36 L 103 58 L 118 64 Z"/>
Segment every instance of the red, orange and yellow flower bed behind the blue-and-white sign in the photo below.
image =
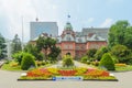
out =
<path fill-rule="evenodd" d="M 74 68 L 74 69 L 59 69 L 59 68 L 40 68 L 33 69 L 21 76 L 20 79 L 50 79 L 55 76 L 69 77 L 69 76 L 81 76 L 84 80 L 99 79 L 99 80 L 113 80 L 114 76 L 106 70 L 92 69 L 92 68 Z"/>

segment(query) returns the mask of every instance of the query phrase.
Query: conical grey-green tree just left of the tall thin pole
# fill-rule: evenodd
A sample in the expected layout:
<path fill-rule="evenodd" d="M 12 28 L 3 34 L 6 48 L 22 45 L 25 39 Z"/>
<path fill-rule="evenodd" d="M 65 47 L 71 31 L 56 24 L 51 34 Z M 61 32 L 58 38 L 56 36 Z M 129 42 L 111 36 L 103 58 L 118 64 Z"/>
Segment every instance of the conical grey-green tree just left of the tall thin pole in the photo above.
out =
<path fill-rule="evenodd" d="M 12 54 L 22 51 L 21 41 L 18 34 L 14 35 L 11 46 L 12 46 L 12 51 L 11 51 Z"/>

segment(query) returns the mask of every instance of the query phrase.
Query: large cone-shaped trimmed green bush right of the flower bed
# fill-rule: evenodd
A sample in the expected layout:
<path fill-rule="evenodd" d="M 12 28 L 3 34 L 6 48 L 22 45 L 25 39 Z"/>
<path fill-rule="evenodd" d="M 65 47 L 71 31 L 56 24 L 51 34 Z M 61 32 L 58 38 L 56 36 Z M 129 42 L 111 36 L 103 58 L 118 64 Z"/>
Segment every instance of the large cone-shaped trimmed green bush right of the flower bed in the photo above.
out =
<path fill-rule="evenodd" d="M 100 63 L 100 67 L 106 67 L 108 70 L 114 70 L 114 63 L 109 53 L 103 54 Z"/>

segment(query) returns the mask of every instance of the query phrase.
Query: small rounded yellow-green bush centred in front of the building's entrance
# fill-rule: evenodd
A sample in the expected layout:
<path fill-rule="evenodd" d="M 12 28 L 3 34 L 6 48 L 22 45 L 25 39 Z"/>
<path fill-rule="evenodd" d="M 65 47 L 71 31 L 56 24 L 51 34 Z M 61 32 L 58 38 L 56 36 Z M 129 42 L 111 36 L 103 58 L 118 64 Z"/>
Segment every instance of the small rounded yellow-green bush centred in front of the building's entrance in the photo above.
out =
<path fill-rule="evenodd" d="M 64 56 L 64 58 L 63 58 L 63 66 L 64 67 L 74 66 L 73 57 L 70 55 Z"/>

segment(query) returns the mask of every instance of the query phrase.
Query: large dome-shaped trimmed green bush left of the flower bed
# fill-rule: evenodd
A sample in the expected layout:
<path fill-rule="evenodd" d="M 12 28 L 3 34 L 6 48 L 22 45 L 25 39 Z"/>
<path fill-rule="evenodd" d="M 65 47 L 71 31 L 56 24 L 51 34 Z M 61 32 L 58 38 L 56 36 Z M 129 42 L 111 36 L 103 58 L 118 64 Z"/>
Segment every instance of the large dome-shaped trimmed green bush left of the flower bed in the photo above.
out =
<path fill-rule="evenodd" d="M 26 70 L 31 66 L 36 67 L 35 57 L 32 54 L 25 53 L 22 58 L 21 68 Z"/>

